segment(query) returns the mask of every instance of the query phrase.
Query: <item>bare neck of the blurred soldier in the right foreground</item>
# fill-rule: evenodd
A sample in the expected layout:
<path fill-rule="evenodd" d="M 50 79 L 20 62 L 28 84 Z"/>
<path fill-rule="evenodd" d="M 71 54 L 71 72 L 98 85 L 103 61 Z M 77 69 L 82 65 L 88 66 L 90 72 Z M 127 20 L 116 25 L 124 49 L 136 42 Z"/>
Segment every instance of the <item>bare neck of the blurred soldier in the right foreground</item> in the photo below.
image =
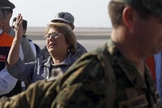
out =
<path fill-rule="evenodd" d="M 136 67 L 141 77 L 144 78 L 145 57 L 141 54 L 141 48 L 136 45 L 137 40 L 135 41 L 133 37 L 134 36 L 131 33 L 129 33 L 128 30 L 123 29 L 123 28 L 112 30 L 112 34 L 111 34 L 111 38 L 113 42 L 115 43 L 115 46 L 124 55 L 124 57 L 132 65 Z"/>

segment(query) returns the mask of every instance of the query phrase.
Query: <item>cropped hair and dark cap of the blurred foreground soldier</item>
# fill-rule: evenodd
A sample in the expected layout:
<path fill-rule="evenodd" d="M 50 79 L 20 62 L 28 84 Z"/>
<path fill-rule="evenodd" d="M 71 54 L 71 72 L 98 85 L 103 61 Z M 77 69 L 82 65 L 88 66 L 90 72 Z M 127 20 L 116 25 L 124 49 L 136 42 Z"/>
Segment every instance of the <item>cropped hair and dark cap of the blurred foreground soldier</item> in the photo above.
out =
<path fill-rule="evenodd" d="M 111 0 L 109 15 L 113 27 L 116 28 L 122 24 L 122 13 L 126 6 L 133 7 L 143 19 L 149 18 L 150 15 L 162 17 L 161 0 Z"/>

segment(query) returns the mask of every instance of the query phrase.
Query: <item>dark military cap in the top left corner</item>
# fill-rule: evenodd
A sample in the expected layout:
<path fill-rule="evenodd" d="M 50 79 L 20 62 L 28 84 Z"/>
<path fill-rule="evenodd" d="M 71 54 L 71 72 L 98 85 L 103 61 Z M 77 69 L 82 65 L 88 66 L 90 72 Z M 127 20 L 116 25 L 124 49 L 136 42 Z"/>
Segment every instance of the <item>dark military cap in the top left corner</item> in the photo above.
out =
<path fill-rule="evenodd" d="M 11 3 L 9 0 L 0 0 L 0 7 L 2 9 L 14 9 L 15 5 Z"/>

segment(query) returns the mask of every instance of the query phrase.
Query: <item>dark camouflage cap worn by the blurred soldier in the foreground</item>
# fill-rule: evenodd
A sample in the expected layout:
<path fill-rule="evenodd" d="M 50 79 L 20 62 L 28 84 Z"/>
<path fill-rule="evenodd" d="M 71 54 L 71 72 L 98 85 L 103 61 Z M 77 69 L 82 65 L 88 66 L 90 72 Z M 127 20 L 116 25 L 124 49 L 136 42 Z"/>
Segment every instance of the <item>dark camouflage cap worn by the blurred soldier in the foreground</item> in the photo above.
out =
<path fill-rule="evenodd" d="M 111 0 L 123 3 L 141 2 L 151 13 L 157 17 L 162 17 L 162 0 Z"/>

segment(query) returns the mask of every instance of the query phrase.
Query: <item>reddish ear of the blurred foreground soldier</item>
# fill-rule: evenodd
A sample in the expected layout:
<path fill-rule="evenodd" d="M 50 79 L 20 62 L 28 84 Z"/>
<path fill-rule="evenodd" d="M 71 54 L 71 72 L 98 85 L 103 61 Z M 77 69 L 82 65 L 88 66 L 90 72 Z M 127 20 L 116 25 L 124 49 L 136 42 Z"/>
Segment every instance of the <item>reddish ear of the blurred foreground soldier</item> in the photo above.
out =
<path fill-rule="evenodd" d="M 122 16 L 124 24 L 128 28 L 132 29 L 134 27 L 134 22 L 136 19 L 136 11 L 132 7 L 128 6 L 124 8 Z"/>

